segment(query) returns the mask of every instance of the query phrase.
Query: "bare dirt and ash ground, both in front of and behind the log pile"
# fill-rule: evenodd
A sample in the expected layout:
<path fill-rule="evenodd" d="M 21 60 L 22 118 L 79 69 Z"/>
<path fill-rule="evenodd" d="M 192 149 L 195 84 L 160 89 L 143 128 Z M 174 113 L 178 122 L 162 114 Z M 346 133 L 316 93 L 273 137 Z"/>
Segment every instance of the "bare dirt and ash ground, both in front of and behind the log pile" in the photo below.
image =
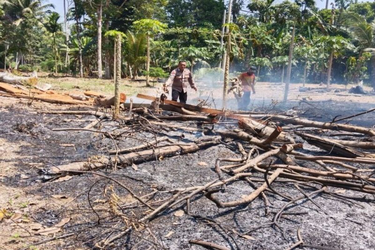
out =
<path fill-rule="evenodd" d="M 150 88 L 143 92 L 138 85 L 135 89 L 131 85 L 130 87 L 133 91 L 131 93 L 134 94 L 137 91 L 148 94 L 156 91 L 156 88 Z M 276 104 L 276 100 L 281 100 L 283 95 L 281 85 L 258 83 L 257 93 L 252 96 L 251 109 L 288 110 L 294 107 L 306 109 L 308 111 L 306 115 L 317 120 L 330 121 L 336 115 L 346 116 L 374 108 L 374 96 L 299 93 L 298 87 L 297 84 L 291 86 L 289 97 L 291 101 L 287 105 L 281 105 Z M 308 85 L 308 87 L 317 87 L 317 85 Z M 332 86 L 332 88 L 338 87 L 340 86 Z M 198 85 L 198 88 L 200 91 L 197 93 L 189 90 L 189 103 L 195 104 L 207 100 L 211 102 L 213 108 L 215 105 L 220 108 L 219 88 L 213 89 L 212 86 L 204 84 Z M 340 93 L 347 94 L 344 91 Z M 235 99 L 233 96 L 229 98 L 229 105 L 235 107 Z M 40 112 L 69 108 L 78 107 L 36 101 L 31 106 L 27 106 L 26 100 L 0 96 L 0 209 L 6 209 L 10 215 L 21 215 L 17 223 L 9 219 L 1 220 L 0 249 L 22 249 L 35 242 L 69 232 L 74 232 L 74 235 L 31 246 L 28 249 L 94 249 L 95 243 L 102 239 L 106 230 L 116 227 L 111 218 L 104 219 L 98 224 L 98 215 L 91 209 L 91 206 L 108 209 L 108 196 L 105 195 L 104 190 L 108 190 L 113 185 L 110 181 L 101 180 L 100 177 L 91 174 L 73 176 L 65 181 L 59 179 L 45 181 L 45 175 L 41 172 L 50 166 L 87 160 L 90 156 L 107 154 L 107 150 L 114 149 L 113 141 L 101 134 L 51 130 L 61 127 L 84 127 L 94 119 L 93 117 Z M 373 126 L 375 114 L 369 113 L 354 118 L 351 123 Z M 202 136 L 199 132 L 185 133 L 184 136 L 181 133 L 180 131 L 167 134 L 183 142 L 193 141 Z M 150 139 L 153 134 L 142 132 L 138 136 Z M 127 139 L 120 142 L 118 147 L 125 148 L 132 145 L 138 145 L 137 141 Z M 145 195 L 156 189 L 162 191 L 207 183 L 217 177 L 214 171 L 217 157 L 235 156 L 230 148 L 218 145 L 195 154 L 141 163 L 136 168 L 127 167 L 116 171 L 105 169 L 99 172 L 117 178 L 138 195 Z M 202 162 L 206 164 L 202 165 Z M 366 167 L 374 168 L 369 165 Z M 260 175 L 254 177 L 262 178 Z M 113 189 L 121 201 L 133 202 L 131 196 L 129 197 L 129 194 L 120 187 L 115 185 Z M 298 195 L 287 186 L 281 189 L 290 196 Z M 225 193 L 219 193 L 219 197 L 223 201 L 229 201 L 240 198 L 252 190 L 254 189 L 249 184 L 239 181 L 231 185 Z M 336 189 L 330 188 L 330 190 Z M 362 193 L 354 191 L 346 191 L 345 195 L 363 197 Z M 157 192 L 153 198 L 163 199 L 165 194 Z M 269 194 L 269 199 L 272 211 L 278 211 L 285 204 L 279 196 Z M 317 205 L 305 201 L 298 203 L 295 208 L 290 208 L 290 211 L 307 214 L 285 216 L 281 220 L 287 239 L 284 239 L 279 229 L 269 227 L 249 233 L 248 239 L 236 234 L 236 232 L 244 233 L 272 220 L 272 214 L 266 216 L 264 213 L 262 199 L 258 198 L 251 204 L 239 208 L 217 208 L 212 202 L 201 198 L 191 201 L 190 216 L 174 215 L 176 211 L 184 210 L 184 205 L 174 210 L 166 210 L 162 216 L 149 224 L 152 234 L 133 231 L 128 236 L 115 241 L 108 249 L 150 249 L 149 247 L 153 246 L 153 237 L 162 242 L 162 247 L 153 249 L 204 249 L 190 245 L 188 241 L 192 239 L 208 240 L 229 249 L 236 249 L 228 235 L 217 226 L 208 225 L 197 217 L 210 217 L 217 220 L 229 233 L 236 235 L 236 240 L 242 249 L 287 249 L 298 241 L 297 228 L 301 229 L 302 237 L 308 244 L 336 249 L 375 249 L 374 197 L 366 195 L 364 199 L 349 203 L 318 195 L 314 197 L 314 201 Z M 134 209 L 129 217 L 141 217 L 143 212 L 145 211 Z M 64 218 L 70 219 L 62 226 L 61 231 L 48 236 L 35 233 L 34 229 L 51 228 Z M 304 247 L 304 249 L 311 248 Z"/>

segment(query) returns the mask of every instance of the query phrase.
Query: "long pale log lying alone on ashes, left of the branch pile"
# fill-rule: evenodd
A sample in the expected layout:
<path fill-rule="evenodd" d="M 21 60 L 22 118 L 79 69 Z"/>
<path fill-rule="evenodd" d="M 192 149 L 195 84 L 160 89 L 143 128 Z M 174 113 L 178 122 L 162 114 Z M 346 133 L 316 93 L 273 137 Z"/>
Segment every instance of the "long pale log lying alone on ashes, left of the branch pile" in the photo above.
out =
<path fill-rule="evenodd" d="M 49 169 L 45 169 L 44 172 L 49 175 L 63 174 L 69 171 L 94 171 L 105 166 L 110 165 L 111 162 L 115 160 L 121 166 L 129 166 L 133 163 L 138 164 L 147 161 L 153 161 L 163 157 L 172 157 L 180 154 L 188 154 L 198 151 L 201 148 L 209 147 L 212 145 L 217 145 L 220 143 L 220 136 L 208 136 L 199 139 L 191 144 L 181 144 L 181 145 L 165 145 L 158 148 L 138 151 L 135 153 L 128 153 L 117 156 L 106 158 L 104 156 L 91 157 L 89 161 L 86 162 L 74 162 L 66 165 L 53 166 Z"/>

